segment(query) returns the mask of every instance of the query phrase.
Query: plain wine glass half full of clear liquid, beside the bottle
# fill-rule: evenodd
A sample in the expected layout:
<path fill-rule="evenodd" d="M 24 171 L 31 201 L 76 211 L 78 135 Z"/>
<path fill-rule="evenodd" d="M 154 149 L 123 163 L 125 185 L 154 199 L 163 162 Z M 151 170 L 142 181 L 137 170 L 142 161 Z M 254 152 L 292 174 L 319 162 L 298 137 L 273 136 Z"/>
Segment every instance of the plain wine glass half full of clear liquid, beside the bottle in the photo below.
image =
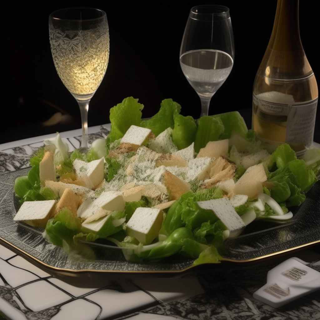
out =
<path fill-rule="evenodd" d="M 180 48 L 180 66 L 208 116 L 211 97 L 228 78 L 234 60 L 229 9 L 222 5 L 191 8 Z"/>

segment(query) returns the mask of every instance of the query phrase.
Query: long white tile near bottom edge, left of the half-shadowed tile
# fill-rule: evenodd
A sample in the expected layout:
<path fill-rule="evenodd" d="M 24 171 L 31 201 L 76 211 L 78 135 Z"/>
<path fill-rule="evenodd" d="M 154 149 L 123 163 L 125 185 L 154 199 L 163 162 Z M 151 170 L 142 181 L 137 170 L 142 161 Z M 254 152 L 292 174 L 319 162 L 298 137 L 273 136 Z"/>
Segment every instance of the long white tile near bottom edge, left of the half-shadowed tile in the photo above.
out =
<path fill-rule="evenodd" d="M 101 319 L 155 302 L 151 296 L 140 290 L 134 292 L 118 292 L 106 289 L 92 293 L 86 296 L 86 298 L 101 306 Z"/>

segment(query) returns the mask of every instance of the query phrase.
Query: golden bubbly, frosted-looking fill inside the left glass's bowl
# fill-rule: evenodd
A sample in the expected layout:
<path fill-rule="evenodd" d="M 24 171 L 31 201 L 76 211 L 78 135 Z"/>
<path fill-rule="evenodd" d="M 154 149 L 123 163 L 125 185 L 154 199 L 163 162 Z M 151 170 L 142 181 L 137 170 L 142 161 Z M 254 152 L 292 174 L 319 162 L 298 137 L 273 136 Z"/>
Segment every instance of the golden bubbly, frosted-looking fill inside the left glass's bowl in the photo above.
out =
<path fill-rule="evenodd" d="M 76 95 L 94 93 L 108 66 L 108 27 L 64 33 L 51 26 L 49 36 L 53 62 L 63 84 Z"/>

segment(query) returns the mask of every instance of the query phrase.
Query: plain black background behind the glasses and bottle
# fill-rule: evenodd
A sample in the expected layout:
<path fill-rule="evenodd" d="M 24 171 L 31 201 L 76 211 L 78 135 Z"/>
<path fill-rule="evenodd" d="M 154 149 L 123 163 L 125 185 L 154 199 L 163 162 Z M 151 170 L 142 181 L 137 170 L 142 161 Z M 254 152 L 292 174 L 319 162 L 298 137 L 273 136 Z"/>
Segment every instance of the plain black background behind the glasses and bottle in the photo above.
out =
<path fill-rule="evenodd" d="M 109 65 L 90 102 L 89 126 L 108 123 L 109 109 L 128 96 L 144 104 L 143 117 L 154 115 L 163 99 L 172 98 L 180 103 L 181 114 L 198 118 L 200 99 L 179 64 L 188 14 L 198 4 L 228 6 L 235 39 L 234 67 L 212 97 L 209 114 L 247 109 L 243 112 L 249 115 L 252 85 L 271 35 L 276 0 L 54 1 L 41 5 L 12 1 L 2 10 L 0 143 L 81 127 L 79 107 L 57 75 L 49 44 L 48 16 L 64 7 L 97 7 L 108 17 Z M 319 82 L 317 7 L 318 1 L 300 1 L 301 41 Z M 64 115 L 62 120 L 44 126 L 56 112 Z M 317 123 L 315 140 L 320 142 Z"/>

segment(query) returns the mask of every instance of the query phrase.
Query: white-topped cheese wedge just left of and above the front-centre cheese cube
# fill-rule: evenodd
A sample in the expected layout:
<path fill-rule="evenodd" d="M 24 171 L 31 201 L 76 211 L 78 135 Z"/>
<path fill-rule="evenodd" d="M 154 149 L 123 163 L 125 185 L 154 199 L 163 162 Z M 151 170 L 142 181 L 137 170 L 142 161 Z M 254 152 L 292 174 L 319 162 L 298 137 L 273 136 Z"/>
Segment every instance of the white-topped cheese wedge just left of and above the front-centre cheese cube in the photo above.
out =
<path fill-rule="evenodd" d="M 103 192 L 91 204 L 90 200 L 86 201 L 85 208 L 81 208 L 78 216 L 82 219 L 87 219 L 98 212 L 101 208 L 107 211 L 124 210 L 125 202 L 123 196 L 116 192 Z M 79 208 L 80 209 L 80 208 Z"/>

